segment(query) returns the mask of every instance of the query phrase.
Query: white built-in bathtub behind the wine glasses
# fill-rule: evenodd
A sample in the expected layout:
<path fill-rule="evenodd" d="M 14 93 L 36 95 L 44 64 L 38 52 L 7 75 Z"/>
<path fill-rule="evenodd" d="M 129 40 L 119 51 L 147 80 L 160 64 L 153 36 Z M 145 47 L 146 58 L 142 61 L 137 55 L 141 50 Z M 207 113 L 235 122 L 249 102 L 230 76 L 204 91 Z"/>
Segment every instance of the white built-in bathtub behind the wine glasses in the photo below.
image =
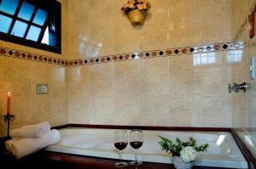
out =
<path fill-rule="evenodd" d="M 118 159 L 119 154 L 113 145 L 113 129 L 73 128 L 59 130 L 61 141 L 46 150 L 102 158 Z M 130 130 L 127 130 L 129 134 Z M 200 153 L 195 166 L 217 166 L 230 168 L 248 168 L 247 161 L 237 147 L 230 132 L 170 132 L 143 130 L 143 146 L 138 149 L 140 161 L 172 163 L 172 156 L 160 149 L 157 135 L 167 138 L 188 139 L 194 137 L 198 144 L 210 144 L 207 152 Z M 123 159 L 134 160 L 134 149 L 128 144 L 123 150 Z"/>

